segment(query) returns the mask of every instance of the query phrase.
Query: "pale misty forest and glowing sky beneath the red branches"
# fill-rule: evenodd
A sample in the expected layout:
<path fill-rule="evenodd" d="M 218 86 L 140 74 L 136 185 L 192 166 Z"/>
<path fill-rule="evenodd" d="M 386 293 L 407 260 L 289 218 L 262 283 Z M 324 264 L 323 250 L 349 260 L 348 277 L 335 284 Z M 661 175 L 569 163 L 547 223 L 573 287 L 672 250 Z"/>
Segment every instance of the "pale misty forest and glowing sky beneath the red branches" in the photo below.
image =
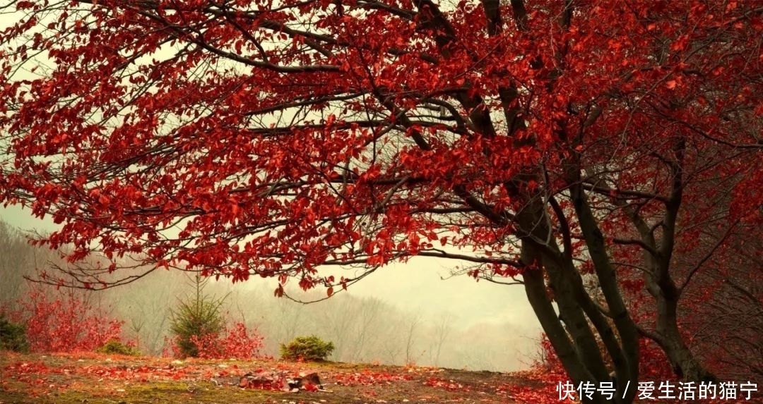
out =
<path fill-rule="evenodd" d="M 10 221 L 18 223 L 16 213 Z M 488 371 L 527 367 L 539 352 L 540 331 L 522 300 L 523 289 L 477 284 L 464 276 L 440 280 L 449 273 L 447 263 L 430 259 L 426 265 L 398 264 L 353 285 L 348 293 L 313 304 L 274 297 L 272 279 L 236 285 L 208 282 L 204 294 L 225 297 L 228 322 L 256 329 L 264 337 L 266 355 L 277 357 L 280 342 L 314 334 L 336 345 L 333 361 Z M 0 222 L 2 304 L 17 304 L 30 287 L 24 275 L 51 264 L 65 265 L 56 252 L 29 245 L 14 224 Z M 53 288 L 50 293 L 55 293 Z M 155 271 L 130 285 L 78 293 L 109 317 L 124 321 L 124 339 L 137 342 L 143 354 L 161 355 L 170 336 L 170 310 L 195 293 L 195 282 L 187 273 Z M 291 294 L 304 301 L 325 296 L 294 289 Z"/>

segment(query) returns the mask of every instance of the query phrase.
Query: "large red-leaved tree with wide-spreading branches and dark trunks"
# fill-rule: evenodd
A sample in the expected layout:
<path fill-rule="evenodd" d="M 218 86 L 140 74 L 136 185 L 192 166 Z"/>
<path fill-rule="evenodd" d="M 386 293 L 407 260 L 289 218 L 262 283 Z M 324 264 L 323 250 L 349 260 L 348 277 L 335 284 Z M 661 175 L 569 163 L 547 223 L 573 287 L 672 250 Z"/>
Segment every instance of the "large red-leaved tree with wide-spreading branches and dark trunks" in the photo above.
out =
<path fill-rule="evenodd" d="M 114 278 L 125 254 L 328 294 L 458 259 L 521 275 L 575 383 L 638 380 L 639 336 L 713 380 L 678 308 L 761 223 L 756 2 L 11 7 L 0 199 L 62 224 L 40 242 L 72 261 L 111 259 L 75 285 L 145 275 Z"/>

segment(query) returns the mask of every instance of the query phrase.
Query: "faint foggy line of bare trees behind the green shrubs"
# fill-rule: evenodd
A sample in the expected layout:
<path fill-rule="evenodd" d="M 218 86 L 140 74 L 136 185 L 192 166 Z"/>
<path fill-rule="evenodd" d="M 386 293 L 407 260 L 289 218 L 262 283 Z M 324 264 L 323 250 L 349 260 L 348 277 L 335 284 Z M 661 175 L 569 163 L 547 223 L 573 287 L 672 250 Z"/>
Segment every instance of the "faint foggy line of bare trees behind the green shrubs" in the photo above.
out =
<path fill-rule="evenodd" d="M 0 304 L 17 306 L 30 288 L 24 275 L 38 275 L 56 265 L 66 265 L 58 253 L 29 245 L 21 231 L 0 221 Z M 398 307 L 352 291 L 301 304 L 274 297 L 272 285 L 256 281 L 208 282 L 204 294 L 224 297 L 228 323 L 244 323 L 264 337 L 264 355 L 278 357 L 280 343 L 304 335 L 333 342 L 336 349 L 330 359 L 343 362 L 514 371 L 529 365 L 539 352 L 534 324 L 465 322 L 446 311 Z M 136 342 L 140 352 L 162 355 L 170 337 L 172 307 L 194 291 L 193 275 L 161 270 L 129 285 L 77 293 L 108 317 L 123 321 L 123 338 Z M 304 301 L 325 296 L 292 292 Z"/>

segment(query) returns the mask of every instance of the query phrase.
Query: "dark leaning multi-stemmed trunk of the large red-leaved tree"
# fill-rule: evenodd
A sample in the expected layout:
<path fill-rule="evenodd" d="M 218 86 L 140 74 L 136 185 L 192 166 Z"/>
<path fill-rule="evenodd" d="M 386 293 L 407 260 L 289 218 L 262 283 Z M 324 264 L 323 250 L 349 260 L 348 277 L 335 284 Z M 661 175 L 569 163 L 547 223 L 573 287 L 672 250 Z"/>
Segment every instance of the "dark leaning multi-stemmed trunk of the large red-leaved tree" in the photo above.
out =
<path fill-rule="evenodd" d="M 528 203 L 517 215 L 520 227 L 528 229 L 526 234 L 520 237 L 522 261 L 531 268 L 523 273 L 527 298 L 562 366 L 575 386 L 581 382 L 591 382 L 594 383 L 594 387 L 599 387 L 601 382 L 611 381 L 607 361 L 604 361 L 603 356 L 609 355 L 610 361 L 615 364 L 616 373 L 621 377 L 620 380 L 633 379 L 632 382 L 635 382 L 638 378 L 638 345 L 637 342 L 636 346 L 624 345 L 629 341 L 636 341 L 635 326 L 630 323 L 633 326 L 633 335 L 621 336 L 622 343 L 617 340 L 613 330 L 585 291 L 574 262 L 559 250 L 555 238 L 548 236 L 551 231 L 548 219 L 544 205 L 538 199 Z M 552 298 L 547 293 L 544 272 L 548 275 L 553 301 L 559 307 L 559 316 L 552 305 Z M 620 295 L 616 294 L 609 300 L 619 301 Z M 616 319 L 616 323 L 619 320 L 622 326 L 623 321 L 630 320 L 621 301 L 620 307 L 623 309 L 624 318 Z M 623 331 L 630 330 L 627 327 L 622 328 Z M 596 336 L 604 342 L 604 352 L 600 351 Z M 591 399 L 586 397 L 582 401 L 586 404 L 633 402 L 636 388 L 632 386 L 628 392 L 624 392 L 623 386 L 618 387 L 620 389 L 611 401 L 607 401 L 598 393 L 594 393 Z"/>

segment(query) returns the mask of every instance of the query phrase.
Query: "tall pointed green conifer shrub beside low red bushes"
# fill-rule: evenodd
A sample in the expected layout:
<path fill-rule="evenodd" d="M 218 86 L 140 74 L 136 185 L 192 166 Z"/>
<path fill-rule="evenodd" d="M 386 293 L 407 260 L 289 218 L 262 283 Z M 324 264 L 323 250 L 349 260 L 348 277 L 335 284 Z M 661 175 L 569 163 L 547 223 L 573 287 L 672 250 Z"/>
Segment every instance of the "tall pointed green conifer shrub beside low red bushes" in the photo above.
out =
<path fill-rule="evenodd" d="M 201 293 L 205 280 L 195 278 L 195 296 L 180 301 L 172 310 L 170 330 L 174 335 L 173 354 L 178 358 L 198 358 L 205 349 L 205 341 L 216 339 L 224 329 L 221 307 L 225 297 L 214 299 Z M 201 345 L 201 346 L 200 346 Z"/>

